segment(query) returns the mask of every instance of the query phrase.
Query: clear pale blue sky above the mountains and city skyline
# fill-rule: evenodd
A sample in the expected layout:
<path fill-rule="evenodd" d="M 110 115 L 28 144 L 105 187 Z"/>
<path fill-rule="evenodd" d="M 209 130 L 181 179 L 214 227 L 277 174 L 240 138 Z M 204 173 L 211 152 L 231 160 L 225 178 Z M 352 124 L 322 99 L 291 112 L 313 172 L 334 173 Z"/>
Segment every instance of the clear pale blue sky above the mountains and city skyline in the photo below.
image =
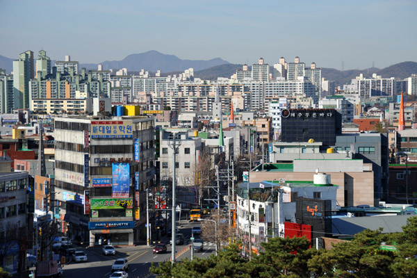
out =
<path fill-rule="evenodd" d="M 417 61 L 417 1 L 0 0 L 0 55 L 101 63 L 156 50 L 341 70 Z"/>

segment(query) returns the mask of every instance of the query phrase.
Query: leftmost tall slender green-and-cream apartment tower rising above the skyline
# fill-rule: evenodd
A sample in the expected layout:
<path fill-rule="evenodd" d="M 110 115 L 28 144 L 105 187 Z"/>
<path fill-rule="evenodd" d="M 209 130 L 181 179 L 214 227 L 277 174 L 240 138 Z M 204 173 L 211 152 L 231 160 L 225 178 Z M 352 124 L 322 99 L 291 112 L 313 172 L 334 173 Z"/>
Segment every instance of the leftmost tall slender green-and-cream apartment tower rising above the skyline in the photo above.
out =
<path fill-rule="evenodd" d="M 33 73 L 33 51 L 28 50 L 13 61 L 13 108 L 29 108 L 29 81 L 33 79 Z"/>

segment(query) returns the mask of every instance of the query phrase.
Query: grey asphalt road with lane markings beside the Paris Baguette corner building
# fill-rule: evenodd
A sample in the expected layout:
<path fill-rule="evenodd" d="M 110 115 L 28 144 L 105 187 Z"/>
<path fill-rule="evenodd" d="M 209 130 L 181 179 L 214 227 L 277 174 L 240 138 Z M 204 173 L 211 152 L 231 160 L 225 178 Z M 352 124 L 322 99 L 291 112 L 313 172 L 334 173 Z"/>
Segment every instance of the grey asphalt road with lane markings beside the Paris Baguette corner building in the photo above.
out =
<path fill-rule="evenodd" d="M 190 259 L 190 236 L 191 227 L 197 226 L 197 223 L 188 223 L 181 221 L 180 231 L 186 238 L 184 245 L 177 245 L 177 261 L 181 259 Z M 169 243 L 170 238 L 162 238 L 161 243 Z M 111 265 L 115 259 L 126 258 L 129 261 L 129 277 L 143 277 L 148 273 L 151 263 L 169 261 L 171 258 L 171 246 L 167 245 L 165 254 L 154 254 L 152 247 L 147 246 L 120 246 L 116 247 L 114 256 L 106 256 L 101 253 L 101 247 L 76 248 L 83 250 L 88 256 L 88 262 L 75 263 L 70 262 L 65 265 L 63 277 L 109 277 L 111 275 Z M 204 243 L 204 252 L 194 252 L 195 257 L 207 257 L 215 253 L 213 243 Z"/>

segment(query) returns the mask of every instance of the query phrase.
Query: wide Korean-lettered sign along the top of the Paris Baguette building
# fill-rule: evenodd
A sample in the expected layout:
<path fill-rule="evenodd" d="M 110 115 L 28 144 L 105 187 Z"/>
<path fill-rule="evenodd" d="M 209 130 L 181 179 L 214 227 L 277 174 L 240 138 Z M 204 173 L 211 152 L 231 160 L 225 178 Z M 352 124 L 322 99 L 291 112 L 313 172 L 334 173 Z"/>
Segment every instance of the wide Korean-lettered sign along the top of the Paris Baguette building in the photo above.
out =
<path fill-rule="evenodd" d="M 90 137 L 93 139 L 133 138 L 132 121 L 92 121 Z"/>

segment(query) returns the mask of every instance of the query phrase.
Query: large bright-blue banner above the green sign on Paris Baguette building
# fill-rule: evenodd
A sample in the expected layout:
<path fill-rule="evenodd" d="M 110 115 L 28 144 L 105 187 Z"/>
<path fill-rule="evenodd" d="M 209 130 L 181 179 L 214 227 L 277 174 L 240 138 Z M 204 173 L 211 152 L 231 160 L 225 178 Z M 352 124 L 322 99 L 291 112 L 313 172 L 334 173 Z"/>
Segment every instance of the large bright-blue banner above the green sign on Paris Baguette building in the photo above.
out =
<path fill-rule="evenodd" d="M 113 163 L 113 186 L 111 197 L 129 198 L 130 165 L 129 163 Z"/>

